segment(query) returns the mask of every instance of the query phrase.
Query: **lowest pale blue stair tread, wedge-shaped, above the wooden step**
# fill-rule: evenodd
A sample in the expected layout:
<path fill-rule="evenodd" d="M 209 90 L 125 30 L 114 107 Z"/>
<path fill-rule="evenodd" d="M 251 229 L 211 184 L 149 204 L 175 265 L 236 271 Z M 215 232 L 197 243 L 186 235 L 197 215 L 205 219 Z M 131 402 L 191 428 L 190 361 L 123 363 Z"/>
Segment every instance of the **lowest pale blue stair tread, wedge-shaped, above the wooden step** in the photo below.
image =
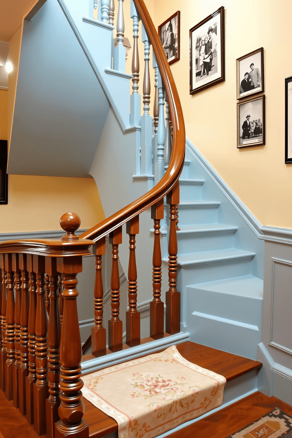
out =
<path fill-rule="evenodd" d="M 193 284 L 186 287 L 190 289 L 206 290 L 262 300 L 264 281 L 253 275 L 247 275 L 211 281 L 208 283 Z"/>

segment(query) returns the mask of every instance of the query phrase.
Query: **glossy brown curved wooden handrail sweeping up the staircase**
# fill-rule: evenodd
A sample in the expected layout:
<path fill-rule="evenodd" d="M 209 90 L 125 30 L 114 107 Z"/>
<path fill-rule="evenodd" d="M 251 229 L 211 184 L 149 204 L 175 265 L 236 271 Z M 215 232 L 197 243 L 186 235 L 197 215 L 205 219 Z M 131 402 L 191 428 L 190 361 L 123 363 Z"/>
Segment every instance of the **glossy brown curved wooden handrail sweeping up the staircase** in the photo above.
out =
<path fill-rule="evenodd" d="M 162 81 L 165 86 L 165 91 L 168 96 L 169 111 L 173 127 L 172 155 L 165 175 L 155 187 L 136 201 L 109 216 L 98 225 L 93 226 L 82 233 L 80 235 L 81 239 L 99 240 L 101 237 L 104 237 L 111 231 L 115 230 L 118 226 L 123 225 L 128 220 L 151 207 L 151 205 L 154 205 L 159 199 L 169 193 L 172 187 L 176 184 L 176 181 L 179 179 L 179 175 L 183 170 L 186 135 L 179 95 L 162 44 L 158 37 L 158 33 L 146 6 L 143 0 L 134 0 L 134 4 L 152 44 L 160 74 L 162 76 Z"/>

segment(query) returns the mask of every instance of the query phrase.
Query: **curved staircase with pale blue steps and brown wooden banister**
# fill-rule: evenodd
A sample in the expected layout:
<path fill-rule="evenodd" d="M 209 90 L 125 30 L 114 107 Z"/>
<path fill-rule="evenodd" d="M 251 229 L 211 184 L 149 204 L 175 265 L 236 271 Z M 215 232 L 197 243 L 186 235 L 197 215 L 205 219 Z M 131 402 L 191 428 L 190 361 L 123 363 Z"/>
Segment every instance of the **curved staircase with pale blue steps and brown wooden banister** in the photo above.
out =
<path fill-rule="evenodd" d="M 34 436 L 33 434 L 36 433 L 44 435 L 46 431 L 46 435 L 50 438 L 54 436 L 64 438 L 70 434 L 78 438 L 116 436 L 116 422 L 93 408 L 87 401 L 82 402 L 81 367 L 83 373 L 86 373 L 161 350 L 169 343 L 177 343 L 178 350 L 186 359 L 226 377 L 222 407 L 227 407 L 256 391 L 257 374 L 261 367 L 260 362 L 255 359 L 257 343 L 261 339 L 263 286 L 263 272 L 256 254 L 260 254 L 262 248 L 253 236 L 252 223 L 248 223 L 234 203 L 232 204 L 228 198 L 228 191 L 222 190 L 222 187 L 216 184 L 212 170 L 188 141 L 184 159 L 184 125 L 176 87 L 157 33 L 150 24 L 150 17 L 141 0 L 131 3 L 130 16 L 133 18 L 134 53 L 137 50 L 138 18 L 141 18 L 145 27 L 141 32 L 144 43 L 144 78 L 146 78 L 143 87 L 143 115 L 140 113 L 141 100 L 137 94 L 138 64 L 137 62 L 132 64 L 133 93 L 129 96 L 127 87 L 132 75 L 125 73 L 122 40 L 118 42 L 116 49 L 113 49 L 114 26 L 110 22 L 113 12 L 110 9 L 112 1 L 99 2 L 101 21 L 91 16 L 92 11 L 89 16 L 84 14 L 84 4 L 88 4 L 88 1 L 48 0 L 39 11 L 35 12 L 35 15 L 32 14 L 35 16 L 35 21 L 32 20 L 24 25 L 26 39 L 23 40 L 24 46 L 21 51 L 8 169 L 10 173 L 30 174 L 33 163 L 39 174 L 59 176 L 90 174 L 97 182 L 108 217 L 102 223 L 82 233 L 79 238 L 74 233 L 78 228 L 78 218 L 75 215 L 64 215 L 61 224 L 66 235 L 61 240 L 8 241 L 0 244 L 3 339 L 0 356 L 0 388 L 6 391 L 8 399 L 8 405 L 3 402 L 3 406 L 11 410 L 9 415 L 12 418 L 16 415 L 15 411 L 18 412 L 16 407 L 19 404 L 20 413 L 24 415 L 26 412 L 28 423 L 34 424 L 35 428 L 33 431 L 32 426 L 27 424 L 25 429 L 22 421 L 25 433 L 29 429 L 31 436 Z M 96 2 L 89 2 L 90 7 L 94 4 Z M 123 1 L 119 0 L 121 9 L 122 5 Z M 121 35 L 123 25 L 122 19 L 119 18 L 120 7 L 116 27 L 118 34 Z M 40 93 L 39 102 L 48 100 L 48 114 L 46 110 L 39 111 L 36 105 L 32 106 L 30 113 L 25 114 L 25 117 L 34 117 L 32 111 L 35 111 L 38 127 L 43 125 L 44 120 L 41 118 L 43 117 L 46 121 L 45 132 L 56 123 L 54 135 L 57 141 L 55 149 L 49 147 L 49 142 L 44 144 L 42 150 L 39 148 L 39 132 L 32 131 L 31 138 L 27 136 L 25 140 L 27 147 L 24 157 L 21 155 L 24 153 L 22 129 L 25 124 L 22 114 L 27 102 L 25 91 L 32 86 L 29 74 L 25 74 L 25 68 L 30 68 L 25 55 L 29 57 L 32 65 L 37 64 L 36 52 L 30 50 L 30 45 L 35 44 L 38 38 L 44 39 L 46 32 L 50 35 L 52 31 L 49 23 L 58 29 L 63 29 L 64 26 L 62 34 L 64 45 L 68 44 L 72 36 L 74 37 L 72 50 L 78 53 L 79 57 L 78 66 L 70 80 L 72 83 L 78 78 L 80 80 L 82 72 L 85 72 L 87 78 L 84 85 L 85 92 L 77 93 L 72 99 L 69 96 L 70 88 L 66 88 L 63 84 L 60 93 L 58 90 L 54 91 L 54 98 L 42 94 L 47 93 L 44 83 L 49 80 L 51 85 L 53 83 L 52 79 L 49 79 L 50 72 L 52 73 L 51 66 L 49 63 L 45 64 L 46 74 L 44 77 L 36 75 L 38 81 L 34 84 L 34 91 L 35 94 Z M 95 38 L 92 38 L 92 32 Z M 104 44 L 96 44 L 96 41 L 101 40 Z M 154 130 L 149 116 L 150 97 L 147 80 L 149 41 L 155 54 L 153 101 L 154 113 L 157 117 L 154 118 Z M 46 54 L 46 50 L 43 52 Z M 45 58 L 46 55 L 43 57 L 44 62 Z M 70 62 L 70 66 L 74 68 L 72 60 Z M 42 62 L 39 64 L 42 65 Z M 65 79 L 63 78 L 64 82 Z M 66 111 L 71 106 L 72 113 L 74 113 L 72 108 L 79 105 L 77 118 L 82 125 L 82 108 L 85 107 L 84 103 L 90 95 L 92 84 L 95 84 L 94 93 L 98 96 L 100 105 L 99 112 L 96 112 L 96 99 L 92 99 L 91 113 L 84 111 L 84 119 L 89 124 L 88 144 L 84 148 L 88 151 L 86 155 L 84 149 L 83 151 L 80 149 L 81 137 L 86 135 L 84 126 L 83 131 L 78 126 L 74 126 L 71 132 L 70 117 L 66 118 L 67 124 L 64 125 L 58 124 L 58 118 L 60 111 L 64 110 L 61 106 L 63 101 L 67 105 Z M 58 107 L 56 114 L 51 106 L 55 99 Z M 164 117 L 164 106 L 166 106 L 166 117 Z M 94 135 L 95 117 L 92 114 L 100 119 L 97 138 Z M 173 131 L 172 144 L 170 121 Z M 63 145 L 63 135 L 69 131 L 69 140 L 67 138 Z M 165 132 L 169 135 L 165 135 Z M 47 136 L 44 137 L 47 141 Z M 163 157 L 164 148 L 172 151 L 170 159 Z M 60 160 L 57 166 L 54 166 L 57 149 L 60 149 Z M 105 166 L 105 163 L 110 162 L 111 157 L 116 164 L 113 181 L 109 181 L 109 169 Z M 78 162 L 81 162 L 79 168 Z M 167 170 L 164 174 L 165 168 Z M 129 173 L 133 175 L 130 182 L 127 181 Z M 166 205 L 163 203 L 165 197 Z M 125 207 L 127 203 L 129 205 Z M 179 205 L 179 230 L 176 231 L 177 205 Z M 164 210 L 168 208 L 167 217 L 170 216 L 170 219 L 165 219 Z M 144 215 L 150 212 L 151 226 L 154 220 L 155 230 L 150 235 L 151 249 L 148 245 L 151 226 L 148 226 L 149 220 L 144 220 Z M 140 225 L 143 225 L 143 230 L 140 232 L 142 242 L 140 263 L 145 272 L 147 266 L 151 266 L 150 272 L 152 271 L 152 277 L 148 276 L 145 282 L 146 286 L 142 284 L 142 293 L 137 290 L 139 263 L 136 266 L 135 259 L 136 235 L 139 242 L 139 216 Z M 127 345 L 125 346 L 122 339 L 122 321 L 119 318 L 120 283 L 117 264 L 124 224 L 127 224 L 126 232 L 130 239 L 129 310 L 126 315 Z M 164 237 L 163 258 L 160 251 L 160 233 Z M 106 329 L 102 321 L 101 271 L 105 239 L 108 234 L 112 245 L 113 268 L 112 319 L 109 321 L 106 342 Z M 128 247 L 128 243 L 126 245 Z M 90 247 L 93 248 L 96 262 L 95 326 L 91 332 L 93 355 L 84 357 L 81 364 L 76 275 L 81 272 L 82 257 L 90 254 Z M 150 253 L 151 256 L 146 261 L 146 256 Z M 121 254 L 124 265 L 126 258 L 129 258 L 128 251 L 127 257 Z M 167 280 L 161 279 L 164 273 L 169 283 L 168 288 L 164 286 Z M 137 296 L 145 299 L 143 286 L 148 293 L 153 292 L 150 304 L 151 338 L 144 340 L 140 336 L 140 315 L 137 312 Z M 58 296 L 58 290 L 61 291 L 62 288 L 63 302 Z M 165 289 L 167 292 L 164 327 L 161 293 Z M 31 296 L 29 312 L 28 292 Z M 46 327 L 46 311 L 49 313 L 49 329 Z M 59 312 L 63 318 L 61 333 Z M 50 356 L 47 356 L 47 338 Z M 144 343 L 146 341 L 149 343 Z M 111 351 L 110 355 L 105 355 L 106 346 Z M 62 351 L 60 359 L 59 350 Z M 5 367 L 9 370 L 7 376 Z M 15 372 L 17 367 L 20 369 L 19 372 Z M 49 375 L 49 382 L 46 377 L 43 378 L 46 372 Z M 21 376 L 20 380 L 17 376 Z M 15 381 L 18 382 L 16 386 Z M 70 381 L 69 389 L 66 381 Z M 49 393 L 48 389 L 50 389 Z M 82 417 L 83 403 L 84 417 Z M 47 420 L 43 420 L 45 410 Z M 79 413 L 77 424 L 74 419 L 72 420 L 75 410 Z M 23 417 L 21 418 L 23 420 Z M 2 432 L 1 426 L 0 431 Z M 21 434 L 18 433 L 18 436 L 20 437 Z M 5 434 L 4 438 L 6 438 Z"/>

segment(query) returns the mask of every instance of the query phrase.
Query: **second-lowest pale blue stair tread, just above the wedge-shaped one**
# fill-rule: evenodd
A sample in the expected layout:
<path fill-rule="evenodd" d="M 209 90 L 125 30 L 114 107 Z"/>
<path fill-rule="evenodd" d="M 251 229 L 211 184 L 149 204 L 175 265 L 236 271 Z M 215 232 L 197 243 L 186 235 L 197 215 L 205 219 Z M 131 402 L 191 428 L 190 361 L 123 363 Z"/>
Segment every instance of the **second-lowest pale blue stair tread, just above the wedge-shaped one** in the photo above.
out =
<path fill-rule="evenodd" d="M 211 261 L 231 260 L 234 258 L 253 258 L 255 255 L 256 254 L 254 252 L 244 251 L 237 248 L 229 248 L 215 251 L 179 254 L 177 257 L 177 262 L 179 265 L 192 265 Z M 163 259 L 163 261 L 168 261 L 168 259 Z"/>

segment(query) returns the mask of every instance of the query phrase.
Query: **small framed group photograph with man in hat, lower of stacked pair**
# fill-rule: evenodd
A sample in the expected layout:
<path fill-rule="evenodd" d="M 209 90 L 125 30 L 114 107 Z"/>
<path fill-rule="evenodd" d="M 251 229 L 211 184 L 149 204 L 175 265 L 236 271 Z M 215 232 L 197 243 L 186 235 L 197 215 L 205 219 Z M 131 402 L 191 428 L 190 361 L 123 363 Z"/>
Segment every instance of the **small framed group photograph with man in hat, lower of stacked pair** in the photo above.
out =
<path fill-rule="evenodd" d="M 265 96 L 237 102 L 237 147 L 265 145 Z"/>

